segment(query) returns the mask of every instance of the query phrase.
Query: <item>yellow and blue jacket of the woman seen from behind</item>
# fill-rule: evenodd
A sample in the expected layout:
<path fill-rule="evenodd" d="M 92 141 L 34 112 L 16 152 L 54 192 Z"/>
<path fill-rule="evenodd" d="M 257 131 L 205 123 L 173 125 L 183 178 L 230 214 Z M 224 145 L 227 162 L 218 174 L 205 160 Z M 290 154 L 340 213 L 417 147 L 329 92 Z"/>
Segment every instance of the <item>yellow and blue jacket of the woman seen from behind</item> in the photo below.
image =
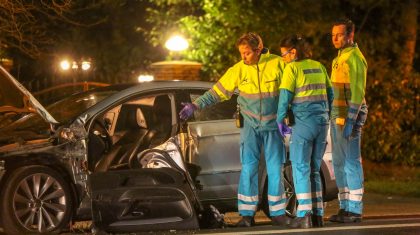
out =
<path fill-rule="evenodd" d="M 325 67 L 318 61 L 305 59 L 286 65 L 280 89 L 293 93 L 293 113 L 325 113 L 328 104 L 332 102 L 333 92 L 331 81 Z M 281 93 L 283 95 L 283 92 Z M 284 93 L 286 95 L 286 93 Z M 285 100 L 283 100 L 283 98 Z M 288 97 L 280 97 L 277 121 L 283 121 L 286 116 Z M 284 107 L 283 107 L 284 106 Z"/>

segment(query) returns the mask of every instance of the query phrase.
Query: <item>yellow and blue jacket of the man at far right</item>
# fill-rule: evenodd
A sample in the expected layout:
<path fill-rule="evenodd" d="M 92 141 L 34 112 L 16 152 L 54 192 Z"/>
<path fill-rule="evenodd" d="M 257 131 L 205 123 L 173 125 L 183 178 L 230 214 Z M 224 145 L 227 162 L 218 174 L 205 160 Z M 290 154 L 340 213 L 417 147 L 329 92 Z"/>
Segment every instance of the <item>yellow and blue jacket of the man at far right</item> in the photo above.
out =
<path fill-rule="evenodd" d="M 334 89 L 332 118 L 356 120 L 365 101 L 367 62 L 357 44 L 338 51 L 333 60 L 331 81 Z"/>

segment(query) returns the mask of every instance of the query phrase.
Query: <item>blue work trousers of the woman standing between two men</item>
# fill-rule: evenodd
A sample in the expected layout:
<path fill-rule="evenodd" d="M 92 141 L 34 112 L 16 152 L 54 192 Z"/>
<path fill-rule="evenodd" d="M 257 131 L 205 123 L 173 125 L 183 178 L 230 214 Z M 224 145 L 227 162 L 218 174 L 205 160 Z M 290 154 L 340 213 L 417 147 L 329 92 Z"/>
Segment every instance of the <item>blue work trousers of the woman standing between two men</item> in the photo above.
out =
<path fill-rule="evenodd" d="M 322 183 L 320 176 L 322 157 L 328 134 L 328 117 L 314 115 L 297 118 L 292 127 L 290 161 L 293 183 L 298 200 L 297 217 L 310 212 L 323 216 Z"/>

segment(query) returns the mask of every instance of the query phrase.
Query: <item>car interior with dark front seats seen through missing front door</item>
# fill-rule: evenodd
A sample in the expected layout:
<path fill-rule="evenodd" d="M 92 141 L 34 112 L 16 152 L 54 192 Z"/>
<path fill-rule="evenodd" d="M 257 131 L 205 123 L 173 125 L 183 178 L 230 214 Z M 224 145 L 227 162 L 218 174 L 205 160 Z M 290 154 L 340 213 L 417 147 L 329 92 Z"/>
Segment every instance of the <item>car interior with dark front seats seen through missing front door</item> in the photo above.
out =
<path fill-rule="evenodd" d="M 89 170 L 127 169 L 141 151 L 164 143 L 172 134 L 168 94 L 118 105 L 93 121 L 89 131 Z M 134 164 L 135 165 L 135 164 Z"/>

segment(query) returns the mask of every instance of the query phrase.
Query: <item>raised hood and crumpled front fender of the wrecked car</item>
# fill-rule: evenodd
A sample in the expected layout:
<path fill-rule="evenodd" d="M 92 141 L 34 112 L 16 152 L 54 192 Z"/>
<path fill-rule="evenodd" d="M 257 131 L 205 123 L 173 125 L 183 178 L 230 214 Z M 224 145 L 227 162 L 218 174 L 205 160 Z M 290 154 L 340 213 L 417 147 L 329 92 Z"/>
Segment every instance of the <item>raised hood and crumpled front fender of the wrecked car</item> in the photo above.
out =
<path fill-rule="evenodd" d="M 57 120 L 32 96 L 32 94 L 4 68 L 0 67 L 0 113 L 2 121 L 12 117 L 13 114 L 35 113 L 50 125 L 57 125 Z M 87 172 L 81 171 L 81 162 L 87 161 L 86 155 L 86 130 L 83 120 L 74 122 L 68 128 L 45 130 L 44 133 L 37 131 L 16 132 L 12 128 L 5 127 L 0 134 L 0 142 L 6 145 L 0 146 L 0 152 L 4 157 L 12 156 L 35 156 L 40 154 L 63 156 L 61 161 L 73 172 L 74 181 L 86 187 Z M 51 133 L 55 135 L 51 138 Z M 12 137 L 12 138 L 11 138 Z M 53 143 L 54 141 L 59 143 Z"/>

